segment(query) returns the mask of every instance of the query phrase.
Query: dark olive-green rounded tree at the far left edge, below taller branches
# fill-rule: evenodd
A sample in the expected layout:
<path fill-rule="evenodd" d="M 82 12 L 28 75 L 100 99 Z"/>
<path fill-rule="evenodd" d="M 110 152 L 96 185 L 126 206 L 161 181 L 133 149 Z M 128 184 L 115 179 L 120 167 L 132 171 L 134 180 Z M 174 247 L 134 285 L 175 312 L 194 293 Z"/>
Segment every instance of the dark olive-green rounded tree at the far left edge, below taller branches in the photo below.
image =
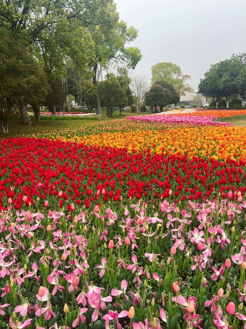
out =
<path fill-rule="evenodd" d="M 8 117 L 15 108 L 39 103 L 45 98 L 49 85 L 39 62 L 34 59 L 22 40 L 0 29 L 0 122 L 3 133 L 8 132 Z M 22 121 L 27 111 L 20 111 Z"/>

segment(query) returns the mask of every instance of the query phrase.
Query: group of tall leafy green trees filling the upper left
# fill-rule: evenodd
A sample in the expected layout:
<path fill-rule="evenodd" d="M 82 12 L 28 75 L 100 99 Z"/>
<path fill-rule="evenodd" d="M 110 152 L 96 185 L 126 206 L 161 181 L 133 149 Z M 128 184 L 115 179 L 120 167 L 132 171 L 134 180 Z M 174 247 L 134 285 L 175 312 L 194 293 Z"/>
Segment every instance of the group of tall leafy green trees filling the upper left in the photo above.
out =
<path fill-rule="evenodd" d="M 112 63 L 134 69 L 141 53 L 129 43 L 136 38 L 137 30 L 119 20 L 113 0 L 0 1 L 2 131 L 8 131 L 14 109 L 30 125 L 27 104 L 38 120 L 40 106 L 53 114 L 67 110 L 69 94 L 101 114 L 100 72 Z"/>

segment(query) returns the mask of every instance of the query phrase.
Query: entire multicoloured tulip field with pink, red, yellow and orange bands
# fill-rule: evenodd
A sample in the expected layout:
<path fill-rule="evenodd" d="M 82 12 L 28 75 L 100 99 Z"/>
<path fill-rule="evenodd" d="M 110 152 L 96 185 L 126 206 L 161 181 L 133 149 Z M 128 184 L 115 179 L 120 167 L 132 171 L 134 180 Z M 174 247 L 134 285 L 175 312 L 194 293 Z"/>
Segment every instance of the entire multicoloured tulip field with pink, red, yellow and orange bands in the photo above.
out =
<path fill-rule="evenodd" d="M 0 328 L 246 329 L 245 115 L 0 139 Z"/>

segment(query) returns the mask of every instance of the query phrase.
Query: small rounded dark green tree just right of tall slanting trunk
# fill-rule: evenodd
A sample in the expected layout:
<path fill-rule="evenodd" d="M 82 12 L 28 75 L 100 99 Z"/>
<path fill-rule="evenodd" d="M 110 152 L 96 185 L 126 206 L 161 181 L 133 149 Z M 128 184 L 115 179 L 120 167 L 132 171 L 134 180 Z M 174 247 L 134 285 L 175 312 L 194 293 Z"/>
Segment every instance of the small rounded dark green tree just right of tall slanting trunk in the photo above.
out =
<path fill-rule="evenodd" d="M 98 84 L 101 105 L 107 109 L 107 114 L 112 116 L 117 108 L 123 108 L 127 105 L 128 99 L 125 96 L 125 90 L 120 85 L 117 77 L 110 73 L 105 81 Z"/>

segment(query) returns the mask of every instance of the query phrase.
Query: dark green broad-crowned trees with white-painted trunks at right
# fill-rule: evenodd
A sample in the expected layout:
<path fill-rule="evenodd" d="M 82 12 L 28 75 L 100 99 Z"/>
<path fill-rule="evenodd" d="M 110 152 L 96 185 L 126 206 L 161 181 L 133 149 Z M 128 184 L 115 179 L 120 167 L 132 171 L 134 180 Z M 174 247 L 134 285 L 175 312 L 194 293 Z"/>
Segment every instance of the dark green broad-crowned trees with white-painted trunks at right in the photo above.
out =
<path fill-rule="evenodd" d="M 245 107 L 246 93 L 246 53 L 233 54 L 230 59 L 212 64 L 210 69 L 200 80 L 199 92 L 206 97 L 212 98 L 216 108 L 221 100 L 225 100 L 226 108 L 232 96 L 240 96 L 242 105 Z M 233 103 L 233 102 L 232 102 Z"/>

